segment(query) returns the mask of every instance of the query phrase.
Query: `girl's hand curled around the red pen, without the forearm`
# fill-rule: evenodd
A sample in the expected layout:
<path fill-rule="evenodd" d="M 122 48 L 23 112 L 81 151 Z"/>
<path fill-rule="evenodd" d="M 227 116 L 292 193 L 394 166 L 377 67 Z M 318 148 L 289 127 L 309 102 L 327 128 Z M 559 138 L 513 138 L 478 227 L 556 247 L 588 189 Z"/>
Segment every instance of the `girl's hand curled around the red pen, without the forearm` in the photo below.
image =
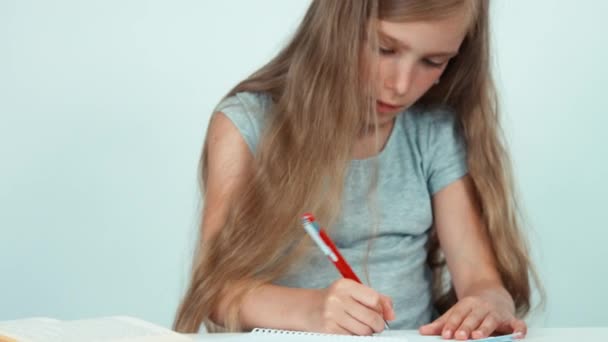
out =
<path fill-rule="evenodd" d="M 310 303 L 310 331 L 371 335 L 384 330 L 384 320 L 395 319 L 389 297 L 353 280 L 339 279 L 317 291 Z"/>

